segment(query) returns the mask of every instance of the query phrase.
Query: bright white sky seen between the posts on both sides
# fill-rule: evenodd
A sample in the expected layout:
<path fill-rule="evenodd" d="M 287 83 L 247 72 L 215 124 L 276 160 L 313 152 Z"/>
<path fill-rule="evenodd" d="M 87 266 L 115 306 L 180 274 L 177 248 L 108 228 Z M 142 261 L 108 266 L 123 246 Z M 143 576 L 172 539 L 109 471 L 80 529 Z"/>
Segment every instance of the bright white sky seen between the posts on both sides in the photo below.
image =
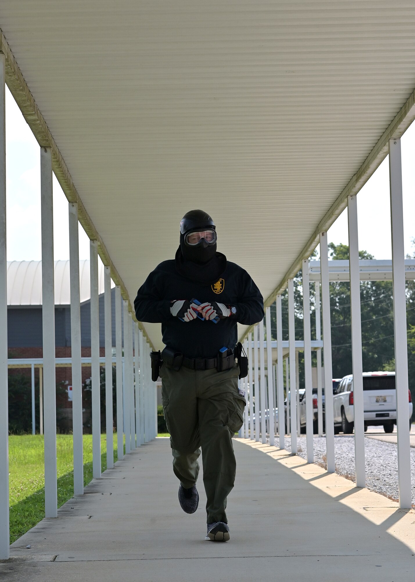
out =
<path fill-rule="evenodd" d="M 402 183 L 405 253 L 415 248 L 415 123 L 402 140 Z M 6 87 L 7 258 L 8 261 L 41 259 L 39 146 Z M 378 259 L 391 258 L 388 158 L 357 196 L 359 249 Z M 53 176 L 55 260 L 69 258 L 68 205 Z M 90 243 L 79 228 L 79 254 L 90 258 Z M 347 210 L 328 230 L 328 242 L 348 244 Z"/>

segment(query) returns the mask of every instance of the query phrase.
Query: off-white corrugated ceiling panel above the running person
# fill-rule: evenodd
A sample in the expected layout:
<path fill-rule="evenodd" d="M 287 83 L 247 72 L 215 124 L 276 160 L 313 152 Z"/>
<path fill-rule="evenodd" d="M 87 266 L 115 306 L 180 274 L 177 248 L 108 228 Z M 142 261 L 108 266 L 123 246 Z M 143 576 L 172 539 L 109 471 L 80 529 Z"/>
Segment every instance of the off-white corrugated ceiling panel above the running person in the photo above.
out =
<path fill-rule="evenodd" d="M 402 0 L 2 0 L 0 28 L 131 300 L 191 208 L 269 296 L 415 87 Z"/>

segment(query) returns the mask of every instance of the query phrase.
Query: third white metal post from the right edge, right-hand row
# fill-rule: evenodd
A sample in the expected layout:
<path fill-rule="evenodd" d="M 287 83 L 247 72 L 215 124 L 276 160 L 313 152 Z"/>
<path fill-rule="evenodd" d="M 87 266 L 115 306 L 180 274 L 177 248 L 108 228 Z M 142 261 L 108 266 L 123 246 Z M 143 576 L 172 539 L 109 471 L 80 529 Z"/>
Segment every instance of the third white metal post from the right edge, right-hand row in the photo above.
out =
<path fill-rule="evenodd" d="M 334 415 L 331 364 L 330 283 L 328 281 L 327 232 L 320 232 L 321 310 L 323 313 L 324 416 L 327 471 L 334 473 Z"/>

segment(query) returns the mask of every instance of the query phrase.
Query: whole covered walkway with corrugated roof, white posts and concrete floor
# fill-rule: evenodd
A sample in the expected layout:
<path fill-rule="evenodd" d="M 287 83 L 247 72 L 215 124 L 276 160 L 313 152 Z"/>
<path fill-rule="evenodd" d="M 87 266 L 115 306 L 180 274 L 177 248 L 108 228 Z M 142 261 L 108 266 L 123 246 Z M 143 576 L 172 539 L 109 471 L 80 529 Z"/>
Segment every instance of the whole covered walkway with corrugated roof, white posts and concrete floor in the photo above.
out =
<path fill-rule="evenodd" d="M 8 560 L 10 551 L 5 85 L 36 138 L 40 155 L 47 518 L 12 546 L 12 559 L 0 565 L 3 579 L 413 580 L 400 137 L 415 118 L 414 30 L 415 7 L 404 0 L 183 0 L 177 4 L 3 0 L 0 559 Z M 399 506 L 364 489 L 356 196 L 387 155 Z M 68 201 L 76 495 L 59 510 L 52 172 Z M 264 321 L 238 329 L 251 363 L 249 376 L 242 381 L 248 406 L 241 432 L 250 440 L 235 442 L 239 472 L 229 506 L 232 538 L 224 545 L 203 541 L 202 507 L 192 517 L 178 507 L 169 443 L 155 439 L 156 391 L 149 352 L 151 347 L 162 347 L 160 325 L 137 321 L 132 308 L 148 273 L 174 257 L 184 212 L 198 207 L 211 212 L 218 250 L 252 275 L 266 307 Z M 316 342 L 323 343 L 317 346 L 317 369 L 321 371 L 323 349 L 328 387 L 332 350 L 327 230 L 345 208 L 356 482 L 334 473 L 330 389 L 325 393 L 328 473 L 313 464 L 309 258 L 319 246 L 320 276 L 313 284 L 316 313 L 320 313 L 321 292 L 322 325 L 316 317 L 315 335 Z M 79 225 L 90 239 L 91 253 L 94 481 L 85 493 Z M 109 467 L 102 476 L 98 255 L 104 265 Z M 299 271 L 309 464 L 284 450 L 284 436 L 291 434 L 291 450 L 298 452 L 294 278 Z M 116 346 L 111 282 L 116 286 Z M 284 384 L 281 301 L 285 290 L 289 365 Z M 271 338 L 274 303 L 277 370 L 272 342 L 265 344 L 265 336 Z M 113 349 L 120 459 L 115 467 Z M 280 414 L 277 427 L 274 410 L 284 409 L 288 385 L 292 398 L 287 424 Z M 317 388 L 319 402 L 321 388 Z M 271 411 L 269 431 L 266 410 Z M 277 449 L 273 445 L 278 442 Z"/>

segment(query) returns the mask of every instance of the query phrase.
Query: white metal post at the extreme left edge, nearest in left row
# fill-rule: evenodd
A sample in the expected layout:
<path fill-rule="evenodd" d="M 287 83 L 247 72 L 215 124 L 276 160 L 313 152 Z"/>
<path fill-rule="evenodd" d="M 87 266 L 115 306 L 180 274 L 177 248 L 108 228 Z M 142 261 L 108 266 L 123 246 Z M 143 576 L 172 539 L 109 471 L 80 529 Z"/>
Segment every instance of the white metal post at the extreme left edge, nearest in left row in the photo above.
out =
<path fill-rule="evenodd" d="M 10 556 L 5 56 L 0 52 L 0 559 Z M 53 231 L 52 231 L 53 232 Z M 53 257 L 52 257 L 53 261 Z M 53 338 L 55 336 L 53 335 Z"/>

